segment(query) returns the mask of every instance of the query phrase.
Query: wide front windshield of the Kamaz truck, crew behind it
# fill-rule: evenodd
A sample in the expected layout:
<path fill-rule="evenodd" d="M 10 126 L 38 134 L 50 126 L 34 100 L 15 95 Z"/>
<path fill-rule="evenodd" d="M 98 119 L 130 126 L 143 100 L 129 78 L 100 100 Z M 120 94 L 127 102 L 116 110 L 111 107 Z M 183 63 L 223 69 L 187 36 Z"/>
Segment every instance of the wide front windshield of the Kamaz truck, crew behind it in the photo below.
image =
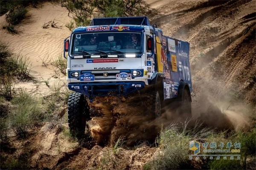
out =
<path fill-rule="evenodd" d="M 75 34 L 71 54 L 142 54 L 142 34 L 102 32 Z"/>

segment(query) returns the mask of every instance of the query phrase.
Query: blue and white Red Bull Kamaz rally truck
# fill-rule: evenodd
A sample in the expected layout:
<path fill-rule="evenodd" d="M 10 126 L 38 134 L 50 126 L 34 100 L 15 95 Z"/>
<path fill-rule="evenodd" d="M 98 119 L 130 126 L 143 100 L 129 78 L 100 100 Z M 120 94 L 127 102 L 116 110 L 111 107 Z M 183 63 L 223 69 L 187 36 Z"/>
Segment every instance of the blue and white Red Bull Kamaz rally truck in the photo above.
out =
<path fill-rule="evenodd" d="M 131 35 L 136 46 L 129 46 Z M 191 115 L 189 43 L 163 35 L 148 17 L 95 18 L 64 40 L 64 57 L 68 88 L 75 92 L 68 99 L 71 133 L 84 132 L 96 96 L 142 91 L 156 117 L 171 105 Z"/>

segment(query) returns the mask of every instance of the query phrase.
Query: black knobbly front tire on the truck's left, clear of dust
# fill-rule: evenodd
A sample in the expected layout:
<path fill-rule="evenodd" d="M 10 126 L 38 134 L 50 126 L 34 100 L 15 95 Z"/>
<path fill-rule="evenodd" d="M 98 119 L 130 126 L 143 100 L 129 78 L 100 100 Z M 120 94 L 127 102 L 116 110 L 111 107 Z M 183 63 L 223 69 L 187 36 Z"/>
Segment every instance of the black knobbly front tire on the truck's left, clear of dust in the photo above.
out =
<path fill-rule="evenodd" d="M 80 93 L 70 94 L 68 98 L 67 114 L 71 135 L 74 137 L 83 135 L 86 127 L 86 120 L 88 119 L 88 115 L 90 115 L 84 95 Z"/>

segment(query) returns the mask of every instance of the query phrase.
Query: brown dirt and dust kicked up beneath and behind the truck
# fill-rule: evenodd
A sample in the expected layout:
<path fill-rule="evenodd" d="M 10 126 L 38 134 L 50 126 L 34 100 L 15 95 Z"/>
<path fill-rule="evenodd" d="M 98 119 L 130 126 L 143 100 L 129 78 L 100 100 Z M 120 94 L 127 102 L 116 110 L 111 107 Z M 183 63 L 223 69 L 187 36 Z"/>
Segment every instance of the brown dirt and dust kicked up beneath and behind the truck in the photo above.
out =
<path fill-rule="evenodd" d="M 250 111 L 243 105 L 212 98 L 210 94 L 201 93 L 194 96 L 192 102 L 192 119 L 189 126 L 196 122 L 203 127 L 214 130 L 248 129 L 250 127 Z M 166 106 L 162 115 L 154 117 L 150 111 L 148 96 L 134 95 L 129 97 L 96 97 L 90 107 L 97 112 L 90 123 L 90 132 L 99 145 L 114 145 L 122 138 L 126 146 L 142 143 L 154 144 L 161 128 L 173 122 L 184 122 L 184 117 L 177 115 L 175 110 Z M 193 99 L 192 99 L 193 100 Z M 143 102 L 141 102 L 143 101 Z M 185 118 L 186 119 L 186 118 Z"/>

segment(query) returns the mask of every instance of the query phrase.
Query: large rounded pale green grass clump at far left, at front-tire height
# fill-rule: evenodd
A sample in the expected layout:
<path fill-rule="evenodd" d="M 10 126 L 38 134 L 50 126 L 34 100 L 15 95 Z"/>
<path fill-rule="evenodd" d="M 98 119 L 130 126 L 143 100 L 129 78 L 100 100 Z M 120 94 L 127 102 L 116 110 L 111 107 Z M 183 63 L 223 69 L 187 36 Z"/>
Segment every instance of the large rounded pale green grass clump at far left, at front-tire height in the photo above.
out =
<path fill-rule="evenodd" d="M 17 136 L 24 138 L 29 128 L 44 119 L 41 101 L 22 90 L 11 102 L 14 107 L 9 115 L 10 126 Z"/>

